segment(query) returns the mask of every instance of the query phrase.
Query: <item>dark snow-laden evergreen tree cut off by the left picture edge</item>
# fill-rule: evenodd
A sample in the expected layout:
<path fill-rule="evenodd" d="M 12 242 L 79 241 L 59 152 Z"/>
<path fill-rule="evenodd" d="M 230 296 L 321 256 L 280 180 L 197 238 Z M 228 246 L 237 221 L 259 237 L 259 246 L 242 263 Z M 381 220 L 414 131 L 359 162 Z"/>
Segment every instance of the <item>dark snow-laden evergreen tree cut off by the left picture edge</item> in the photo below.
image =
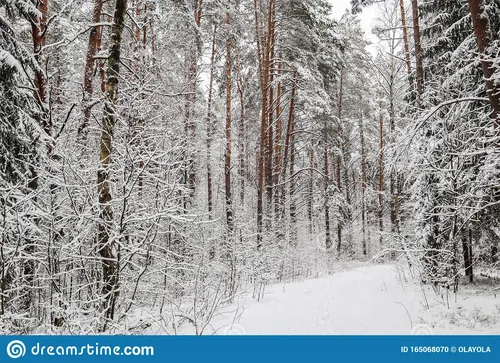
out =
<path fill-rule="evenodd" d="M 38 14 L 30 2 L 0 2 L 1 315 L 33 311 L 33 251 L 38 237 L 34 194 L 42 156 L 38 144 L 46 137 L 39 123 L 40 104 L 30 91 L 32 74 L 42 71 L 17 25 Z M 24 329 L 25 324 L 18 326 Z"/>

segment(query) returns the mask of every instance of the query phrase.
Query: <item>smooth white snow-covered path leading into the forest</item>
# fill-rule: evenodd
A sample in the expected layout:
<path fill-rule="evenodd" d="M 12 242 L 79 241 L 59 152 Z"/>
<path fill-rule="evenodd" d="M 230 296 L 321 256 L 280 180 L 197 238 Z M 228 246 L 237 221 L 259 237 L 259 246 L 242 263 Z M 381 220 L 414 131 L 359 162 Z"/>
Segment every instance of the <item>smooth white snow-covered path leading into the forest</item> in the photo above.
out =
<path fill-rule="evenodd" d="M 273 285 L 260 302 L 247 297 L 239 319 L 226 314 L 212 327 L 217 334 L 410 334 L 423 296 L 400 280 L 395 266 L 375 265 Z"/>

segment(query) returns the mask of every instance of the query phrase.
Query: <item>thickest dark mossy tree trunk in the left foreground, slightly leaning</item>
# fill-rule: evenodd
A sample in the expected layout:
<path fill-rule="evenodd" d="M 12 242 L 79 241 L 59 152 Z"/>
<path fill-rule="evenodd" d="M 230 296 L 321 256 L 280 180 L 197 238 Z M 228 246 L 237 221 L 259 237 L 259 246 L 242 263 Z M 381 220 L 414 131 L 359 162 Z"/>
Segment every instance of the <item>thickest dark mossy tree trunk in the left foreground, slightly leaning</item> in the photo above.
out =
<path fill-rule="evenodd" d="M 97 191 L 99 195 L 98 251 L 102 263 L 102 298 L 103 316 L 107 321 L 114 318 L 116 299 L 118 297 L 118 252 L 119 245 L 112 238 L 113 207 L 110 190 L 113 134 L 116 122 L 116 103 L 118 96 L 118 79 L 120 76 L 120 50 L 122 32 L 125 23 L 127 0 L 116 0 L 113 26 L 110 35 L 110 49 L 106 79 L 106 100 L 102 119 L 100 138 L 100 166 L 97 171 Z"/>

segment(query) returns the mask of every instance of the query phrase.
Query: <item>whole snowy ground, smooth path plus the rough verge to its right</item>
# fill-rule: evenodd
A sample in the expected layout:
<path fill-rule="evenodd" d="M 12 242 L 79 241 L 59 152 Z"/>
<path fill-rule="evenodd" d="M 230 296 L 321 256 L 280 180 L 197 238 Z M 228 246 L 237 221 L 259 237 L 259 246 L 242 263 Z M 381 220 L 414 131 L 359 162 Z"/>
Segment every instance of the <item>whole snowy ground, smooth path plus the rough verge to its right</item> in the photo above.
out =
<path fill-rule="evenodd" d="M 500 334 L 494 284 L 464 285 L 455 302 L 412 281 L 402 268 L 370 265 L 276 284 L 259 302 L 242 297 L 204 334 Z"/>

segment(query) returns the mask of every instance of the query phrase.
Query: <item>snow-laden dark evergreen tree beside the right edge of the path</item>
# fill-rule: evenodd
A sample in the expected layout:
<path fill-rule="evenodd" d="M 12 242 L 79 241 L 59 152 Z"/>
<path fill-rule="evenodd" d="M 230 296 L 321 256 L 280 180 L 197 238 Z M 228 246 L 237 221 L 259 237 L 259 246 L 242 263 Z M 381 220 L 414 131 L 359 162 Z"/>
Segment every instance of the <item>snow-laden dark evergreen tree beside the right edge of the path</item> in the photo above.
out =
<path fill-rule="evenodd" d="M 495 141 L 487 131 L 492 121 L 485 117 L 480 62 L 471 51 L 473 24 L 466 2 L 461 4 L 433 1 L 422 7 L 427 84 L 423 98 L 431 112 L 419 115 L 415 132 L 421 144 L 418 161 L 412 164 L 419 170 L 412 193 L 420 216 L 418 237 L 429 249 L 424 258 L 427 279 L 454 289 L 459 246 L 472 281 L 471 231 L 488 230 L 485 220 L 496 219 L 495 213 L 485 218 L 480 207 L 495 194 L 482 176 L 491 169 L 487 155 Z"/>

